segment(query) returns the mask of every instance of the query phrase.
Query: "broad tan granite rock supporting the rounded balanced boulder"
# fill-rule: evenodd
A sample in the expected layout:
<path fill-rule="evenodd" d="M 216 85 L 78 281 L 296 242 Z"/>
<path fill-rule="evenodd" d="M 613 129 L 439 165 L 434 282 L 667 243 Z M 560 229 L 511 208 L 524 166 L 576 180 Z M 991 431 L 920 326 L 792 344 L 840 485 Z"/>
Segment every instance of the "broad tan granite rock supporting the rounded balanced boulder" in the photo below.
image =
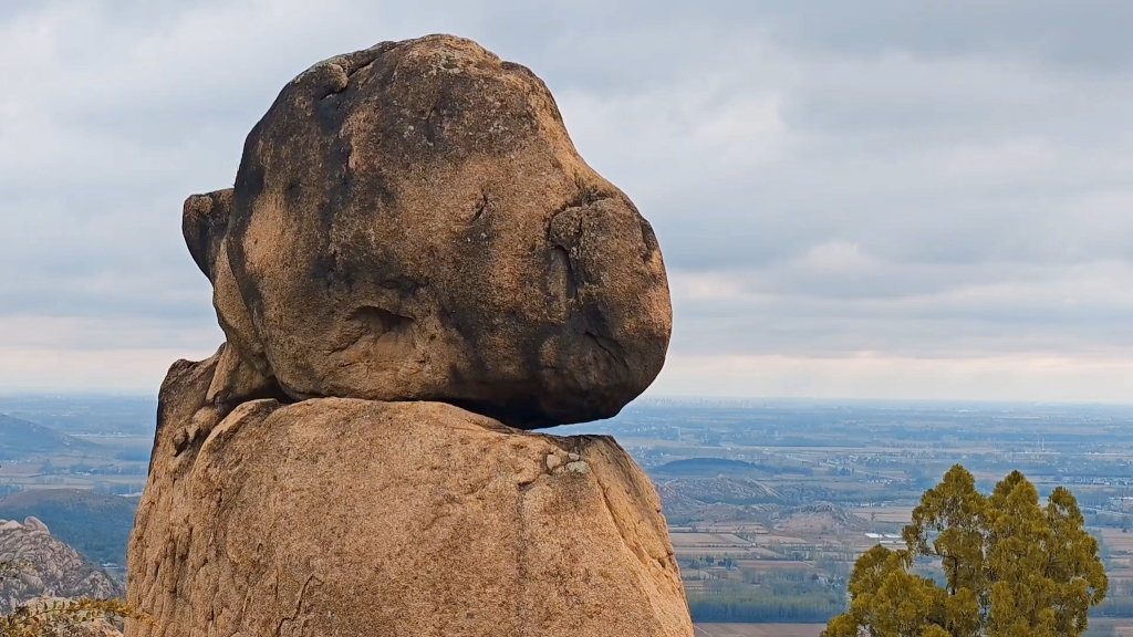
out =
<path fill-rule="evenodd" d="M 648 478 L 612 439 L 436 402 L 205 405 L 162 388 L 127 636 L 692 635 Z"/>

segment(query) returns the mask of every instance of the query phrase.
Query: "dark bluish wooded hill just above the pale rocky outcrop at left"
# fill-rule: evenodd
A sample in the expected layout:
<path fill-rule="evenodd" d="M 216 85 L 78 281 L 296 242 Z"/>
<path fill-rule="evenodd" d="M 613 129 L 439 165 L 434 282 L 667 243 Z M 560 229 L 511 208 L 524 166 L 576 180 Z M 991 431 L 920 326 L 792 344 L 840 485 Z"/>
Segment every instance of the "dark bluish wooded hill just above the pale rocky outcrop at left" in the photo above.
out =
<path fill-rule="evenodd" d="M 35 489 L 0 500 L 0 518 L 36 517 L 48 525 L 51 535 L 90 560 L 125 564 L 137 504 L 137 499 L 88 490 Z"/>

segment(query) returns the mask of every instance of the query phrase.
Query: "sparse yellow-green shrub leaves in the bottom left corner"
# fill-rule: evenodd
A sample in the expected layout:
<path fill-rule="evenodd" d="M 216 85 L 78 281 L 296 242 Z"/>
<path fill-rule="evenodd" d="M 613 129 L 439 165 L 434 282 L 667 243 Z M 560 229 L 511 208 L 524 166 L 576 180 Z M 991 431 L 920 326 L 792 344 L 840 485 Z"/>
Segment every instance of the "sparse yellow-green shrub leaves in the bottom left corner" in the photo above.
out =
<path fill-rule="evenodd" d="M 19 577 L 29 568 L 29 564 L 0 562 L 0 580 Z M 145 614 L 122 600 L 33 600 L 0 615 L 0 637 L 80 637 L 104 634 L 90 628 L 92 622 L 125 619 L 147 621 Z"/>

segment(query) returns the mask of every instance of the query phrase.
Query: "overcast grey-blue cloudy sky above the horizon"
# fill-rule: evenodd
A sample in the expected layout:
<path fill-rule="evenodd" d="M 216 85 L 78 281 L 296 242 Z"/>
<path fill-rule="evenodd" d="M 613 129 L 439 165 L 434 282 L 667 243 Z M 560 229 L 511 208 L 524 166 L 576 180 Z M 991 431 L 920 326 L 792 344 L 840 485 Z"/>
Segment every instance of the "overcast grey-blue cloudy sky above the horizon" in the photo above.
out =
<path fill-rule="evenodd" d="M 2 0 L 0 391 L 211 355 L 181 202 L 318 60 L 523 63 L 653 223 L 651 396 L 1133 400 L 1125 0 Z"/>

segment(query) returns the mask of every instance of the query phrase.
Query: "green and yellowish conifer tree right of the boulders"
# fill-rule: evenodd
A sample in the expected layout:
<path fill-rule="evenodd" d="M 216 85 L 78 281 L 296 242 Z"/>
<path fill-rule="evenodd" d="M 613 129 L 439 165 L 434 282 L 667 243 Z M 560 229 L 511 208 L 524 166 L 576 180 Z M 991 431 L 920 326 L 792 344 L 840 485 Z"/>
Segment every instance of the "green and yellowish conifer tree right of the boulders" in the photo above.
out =
<path fill-rule="evenodd" d="M 1108 591 L 1099 546 L 1070 491 L 1047 506 L 1012 472 L 990 496 L 956 465 L 904 529 L 908 549 L 878 545 L 854 564 L 850 609 L 826 637 L 1076 637 Z M 913 575 L 939 559 L 945 586 Z"/>

